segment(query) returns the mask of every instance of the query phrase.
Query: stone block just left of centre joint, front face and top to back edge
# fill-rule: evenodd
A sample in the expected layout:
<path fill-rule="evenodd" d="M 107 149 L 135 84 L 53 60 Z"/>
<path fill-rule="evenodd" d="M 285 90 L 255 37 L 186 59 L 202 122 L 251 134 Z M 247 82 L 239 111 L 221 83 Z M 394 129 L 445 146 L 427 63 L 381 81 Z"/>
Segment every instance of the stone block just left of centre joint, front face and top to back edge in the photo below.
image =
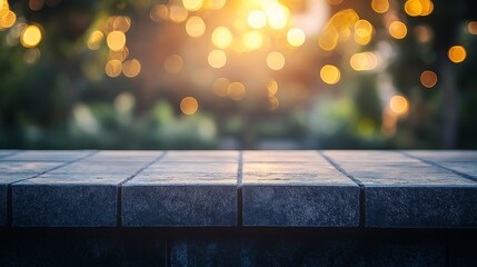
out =
<path fill-rule="evenodd" d="M 237 151 L 170 151 L 122 187 L 122 224 L 237 226 Z"/>

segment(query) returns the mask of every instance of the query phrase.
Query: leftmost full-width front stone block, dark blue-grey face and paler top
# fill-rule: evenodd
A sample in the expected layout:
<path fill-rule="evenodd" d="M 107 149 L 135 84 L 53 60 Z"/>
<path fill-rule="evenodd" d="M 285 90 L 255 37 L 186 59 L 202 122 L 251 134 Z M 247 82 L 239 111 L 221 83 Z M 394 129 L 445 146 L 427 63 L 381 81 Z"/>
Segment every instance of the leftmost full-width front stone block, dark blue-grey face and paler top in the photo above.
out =
<path fill-rule="evenodd" d="M 113 227 L 126 175 L 43 175 L 12 185 L 14 227 Z"/>

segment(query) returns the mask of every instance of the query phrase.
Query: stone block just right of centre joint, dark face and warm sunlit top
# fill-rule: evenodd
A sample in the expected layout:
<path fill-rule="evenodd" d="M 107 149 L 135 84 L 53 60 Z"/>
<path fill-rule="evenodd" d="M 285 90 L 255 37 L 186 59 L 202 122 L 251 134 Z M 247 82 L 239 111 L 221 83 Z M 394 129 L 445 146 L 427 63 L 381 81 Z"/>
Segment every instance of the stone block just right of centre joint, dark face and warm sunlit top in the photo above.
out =
<path fill-rule="evenodd" d="M 244 226 L 357 227 L 358 185 L 322 160 L 294 160 L 244 162 Z"/>

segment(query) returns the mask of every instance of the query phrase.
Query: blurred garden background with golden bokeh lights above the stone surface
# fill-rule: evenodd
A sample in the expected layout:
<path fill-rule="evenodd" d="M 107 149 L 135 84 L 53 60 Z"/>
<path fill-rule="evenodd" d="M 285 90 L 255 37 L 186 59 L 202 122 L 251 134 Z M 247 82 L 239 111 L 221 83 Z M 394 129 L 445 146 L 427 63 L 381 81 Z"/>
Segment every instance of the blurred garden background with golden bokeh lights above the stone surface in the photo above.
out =
<path fill-rule="evenodd" d="M 0 148 L 477 148 L 477 1 L 0 0 Z"/>

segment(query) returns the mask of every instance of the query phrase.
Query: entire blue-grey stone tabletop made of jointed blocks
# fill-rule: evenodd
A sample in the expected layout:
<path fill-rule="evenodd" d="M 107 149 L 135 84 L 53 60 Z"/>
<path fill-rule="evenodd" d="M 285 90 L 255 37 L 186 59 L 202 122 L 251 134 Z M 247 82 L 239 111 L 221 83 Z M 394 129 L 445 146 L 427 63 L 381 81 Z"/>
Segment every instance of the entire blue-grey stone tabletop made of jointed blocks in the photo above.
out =
<path fill-rule="evenodd" d="M 477 151 L 0 150 L 0 227 L 477 228 Z"/>

